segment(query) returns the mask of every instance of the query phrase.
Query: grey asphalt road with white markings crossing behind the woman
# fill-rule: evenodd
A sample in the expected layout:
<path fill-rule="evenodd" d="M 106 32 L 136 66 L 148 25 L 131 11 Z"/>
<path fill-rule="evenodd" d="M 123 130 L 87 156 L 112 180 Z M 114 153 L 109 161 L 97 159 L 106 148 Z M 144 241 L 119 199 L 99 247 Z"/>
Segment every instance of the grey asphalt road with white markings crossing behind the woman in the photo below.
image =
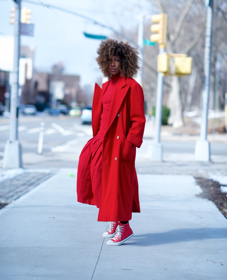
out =
<path fill-rule="evenodd" d="M 92 137 L 91 125 L 82 125 L 80 117 L 70 116 L 20 116 L 18 120 L 18 139 L 22 145 L 23 153 L 36 153 L 41 122 L 45 123 L 43 152 L 56 152 L 70 149 L 79 153 L 84 144 Z M 5 143 L 9 138 L 8 118 L 0 117 L 0 159 L 4 155 Z M 151 138 L 144 138 L 139 149 L 140 157 L 146 155 Z M 194 153 L 195 142 L 163 141 L 163 153 Z M 211 143 L 211 154 L 227 156 L 225 143 Z"/>

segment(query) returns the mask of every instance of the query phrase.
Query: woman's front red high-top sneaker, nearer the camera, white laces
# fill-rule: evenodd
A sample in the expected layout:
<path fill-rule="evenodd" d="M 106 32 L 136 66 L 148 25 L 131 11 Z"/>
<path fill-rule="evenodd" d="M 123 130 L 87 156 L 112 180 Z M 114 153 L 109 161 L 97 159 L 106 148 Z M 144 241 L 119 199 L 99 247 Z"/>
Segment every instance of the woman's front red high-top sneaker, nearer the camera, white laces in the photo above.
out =
<path fill-rule="evenodd" d="M 122 224 L 119 222 L 117 226 L 117 233 L 114 238 L 107 241 L 107 245 L 121 245 L 126 240 L 133 237 L 133 231 L 129 226 L 129 223 Z"/>

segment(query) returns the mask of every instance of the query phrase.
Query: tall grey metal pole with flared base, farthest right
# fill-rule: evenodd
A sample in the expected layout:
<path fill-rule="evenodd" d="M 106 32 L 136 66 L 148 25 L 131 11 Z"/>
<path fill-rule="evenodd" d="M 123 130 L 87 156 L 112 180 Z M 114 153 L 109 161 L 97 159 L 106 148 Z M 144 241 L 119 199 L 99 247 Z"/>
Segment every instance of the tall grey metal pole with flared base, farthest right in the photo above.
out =
<path fill-rule="evenodd" d="M 204 49 L 204 82 L 202 90 L 202 113 L 200 139 L 196 142 L 195 161 L 210 161 L 210 143 L 207 140 L 207 115 L 210 90 L 210 58 L 212 48 L 213 0 L 208 0 L 206 19 L 206 39 Z"/>

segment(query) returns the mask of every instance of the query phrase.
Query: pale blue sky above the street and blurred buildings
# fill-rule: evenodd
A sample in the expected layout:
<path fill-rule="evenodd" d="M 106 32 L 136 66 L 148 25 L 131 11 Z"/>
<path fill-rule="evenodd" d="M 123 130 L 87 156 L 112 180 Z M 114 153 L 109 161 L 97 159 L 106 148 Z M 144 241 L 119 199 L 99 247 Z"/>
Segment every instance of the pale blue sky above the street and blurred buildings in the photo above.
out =
<path fill-rule="evenodd" d="M 35 5 L 31 2 L 39 3 Z M 42 4 L 43 3 L 43 4 Z M 21 36 L 21 46 L 34 46 L 34 66 L 40 72 L 50 72 L 58 62 L 64 64 L 64 73 L 79 75 L 81 85 L 93 84 L 102 77 L 95 58 L 100 40 L 86 38 L 83 32 L 105 35 L 114 39 L 107 28 L 45 5 L 54 5 L 92 18 L 122 32 L 138 29 L 138 15 L 150 13 L 149 0 L 31 0 L 21 7 L 32 10 L 34 36 Z M 13 0 L 0 0 L 0 35 L 13 35 L 9 23 Z M 125 40 L 126 41 L 126 40 Z"/>

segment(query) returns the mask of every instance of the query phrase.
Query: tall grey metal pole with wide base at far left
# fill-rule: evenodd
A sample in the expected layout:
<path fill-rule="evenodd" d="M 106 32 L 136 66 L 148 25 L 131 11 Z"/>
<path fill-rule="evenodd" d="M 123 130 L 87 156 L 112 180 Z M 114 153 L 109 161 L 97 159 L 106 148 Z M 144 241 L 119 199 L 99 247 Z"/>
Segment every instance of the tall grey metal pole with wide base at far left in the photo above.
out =
<path fill-rule="evenodd" d="M 18 78 L 19 78 L 19 58 L 20 58 L 20 18 L 21 0 L 15 2 L 15 23 L 14 23 L 14 62 L 13 71 L 10 77 L 10 131 L 9 140 L 5 145 L 4 168 L 21 168 L 22 154 L 21 145 L 18 141 Z"/>

